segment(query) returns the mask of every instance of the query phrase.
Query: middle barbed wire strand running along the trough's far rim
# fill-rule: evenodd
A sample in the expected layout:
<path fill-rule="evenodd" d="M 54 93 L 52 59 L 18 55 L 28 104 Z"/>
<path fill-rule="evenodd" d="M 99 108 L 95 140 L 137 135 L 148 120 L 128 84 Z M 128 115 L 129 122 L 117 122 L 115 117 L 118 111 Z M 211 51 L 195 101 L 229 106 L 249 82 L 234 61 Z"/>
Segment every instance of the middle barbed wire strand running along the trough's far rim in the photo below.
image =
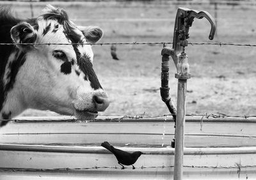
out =
<path fill-rule="evenodd" d="M 85 120 L 85 122 L 93 122 L 93 121 L 97 121 L 97 120 L 101 120 L 101 121 L 123 121 L 124 119 L 131 119 L 131 120 L 138 120 L 138 119 L 154 119 L 154 118 L 165 118 L 165 117 L 172 117 L 173 115 L 176 114 L 163 114 L 163 115 L 158 115 L 158 116 L 145 116 L 145 112 L 142 113 L 142 115 L 136 115 L 136 116 L 129 116 L 129 115 L 124 115 L 124 116 L 118 116 L 118 117 L 97 117 L 97 119 L 94 120 Z M 217 119 L 224 119 L 224 118 L 243 118 L 243 119 L 248 119 L 248 118 L 252 118 L 252 117 L 256 117 L 256 115 L 241 115 L 241 116 L 237 116 L 237 115 L 228 115 L 228 114 L 224 114 L 222 112 L 217 112 L 216 114 L 214 113 L 207 113 L 205 112 L 204 114 L 196 114 L 196 113 L 190 113 L 190 114 L 186 114 L 186 117 L 200 117 L 200 122 L 202 123 L 203 119 L 209 119 L 210 117 Z M 47 118 L 47 117 L 45 117 Z M 79 119 L 76 119 L 74 117 L 70 116 L 70 119 L 67 119 L 67 117 L 61 119 L 40 119 L 40 120 L 35 120 L 35 119 L 0 119 L 0 121 L 14 121 L 14 122 L 18 122 L 18 121 L 63 121 L 63 122 L 67 122 L 67 121 L 71 121 L 71 122 L 75 122 L 75 121 L 81 121 Z"/>

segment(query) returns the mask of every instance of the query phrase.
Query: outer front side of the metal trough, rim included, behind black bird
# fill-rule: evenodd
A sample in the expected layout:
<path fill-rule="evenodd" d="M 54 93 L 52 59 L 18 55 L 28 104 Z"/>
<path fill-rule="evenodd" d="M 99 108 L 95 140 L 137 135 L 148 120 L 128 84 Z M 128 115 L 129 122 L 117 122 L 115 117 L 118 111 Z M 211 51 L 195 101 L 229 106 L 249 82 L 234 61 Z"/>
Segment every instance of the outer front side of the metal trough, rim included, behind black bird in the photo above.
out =
<path fill-rule="evenodd" d="M 51 148 L 52 151 L 49 151 Z M 120 169 L 115 156 L 102 147 L 70 149 L 63 146 L 61 149 L 58 152 L 56 147 L 40 146 L 34 151 L 20 151 L 22 149 L 17 148 L 1 150 L 0 179 L 7 177 L 15 179 L 15 176 L 20 179 L 170 179 L 173 176 L 174 151 L 172 148 L 121 148 L 131 152 L 140 149 L 145 153 L 134 164 L 135 170 Z M 69 151 L 63 152 L 63 149 L 69 149 Z M 227 177 L 228 179 L 242 179 L 242 177 L 253 179 L 256 177 L 256 167 L 252 166 L 256 164 L 255 152 L 256 147 L 185 148 L 184 179 L 191 177 L 191 179 L 225 179 Z M 165 167 L 161 167 L 163 165 Z M 6 172 L 4 168 L 13 169 L 13 171 Z M 23 170 L 16 172 L 16 168 Z M 79 168 L 82 170 L 72 170 Z"/>

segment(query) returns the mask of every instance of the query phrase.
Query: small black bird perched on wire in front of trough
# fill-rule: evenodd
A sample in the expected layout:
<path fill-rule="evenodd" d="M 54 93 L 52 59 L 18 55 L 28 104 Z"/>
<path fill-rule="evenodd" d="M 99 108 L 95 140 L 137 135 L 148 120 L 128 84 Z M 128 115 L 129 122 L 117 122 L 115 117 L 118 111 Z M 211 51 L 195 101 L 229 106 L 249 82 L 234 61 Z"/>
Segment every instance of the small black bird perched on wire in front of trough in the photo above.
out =
<path fill-rule="evenodd" d="M 118 164 L 122 165 L 122 169 L 124 169 L 124 165 L 132 165 L 132 169 L 135 169 L 133 164 L 138 160 L 138 158 L 141 156 L 141 151 L 135 151 L 133 153 L 128 153 L 125 151 L 122 151 L 120 149 L 116 149 L 115 147 L 111 146 L 108 142 L 103 142 L 101 144 L 102 147 L 105 147 L 108 149 L 111 153 L 113 153 L 116 156 L 116 159 L 118 160 Z"/>

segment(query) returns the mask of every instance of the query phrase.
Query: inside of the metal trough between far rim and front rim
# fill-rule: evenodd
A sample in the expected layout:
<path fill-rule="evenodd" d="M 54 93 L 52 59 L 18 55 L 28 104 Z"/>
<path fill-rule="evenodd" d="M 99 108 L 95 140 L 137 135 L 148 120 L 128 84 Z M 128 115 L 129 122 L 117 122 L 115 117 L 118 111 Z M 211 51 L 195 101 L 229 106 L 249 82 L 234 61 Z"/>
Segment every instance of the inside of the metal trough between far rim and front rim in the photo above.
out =
<path fill-rule="evenodd" d="M 99 146 L 108 140 L 116 146 L 161 147 L 163 144 L 166 147 L 170 146 L 174 136 L 173 125 L 170 119 L 148 119 L 144 122 L 138 119 L 129 122 L 10 123 L 0 128 L 0 143 Z M 255 127 L 256 119 L 200 121 L 200 118 L 189 117 L 186 120 L 185 147 L 256 146 Z"/>

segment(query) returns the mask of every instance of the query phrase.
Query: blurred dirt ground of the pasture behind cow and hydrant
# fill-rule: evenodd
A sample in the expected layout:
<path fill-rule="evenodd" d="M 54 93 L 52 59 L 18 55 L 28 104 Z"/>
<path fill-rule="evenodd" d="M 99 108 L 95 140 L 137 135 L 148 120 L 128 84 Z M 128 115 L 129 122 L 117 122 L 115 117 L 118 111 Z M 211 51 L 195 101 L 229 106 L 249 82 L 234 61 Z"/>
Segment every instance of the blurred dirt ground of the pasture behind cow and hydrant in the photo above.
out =
<path fill-rule="evenodd" d="M 68 11 L 76 24 L 102 27 L 104 37 L 101 42 L 161 42 L 173 39 L 177 11 L 174 5 L 60 6 Z M 35 15 L 43 7 L 34 5 Z M 206 10 L 214 15 L 211 5 L 187 5 L 186 8 Z M 255 43 L 255 8 L 218 6 L 218 30 L 213 42 Z M 13 6 L 13 11 L 16 11 L 16 15 L 30 17 L 29 6 Z M 208 42 L 209 31 L 207 20 L 195 19 L 189 31 L 189 41 Z M 114 61 L 108 45 L 93 47 L 93 66 L 111 100 L 109 108 L 100 116 L 135 116 L 143 112 L 148 116 L 168 114 L 159 93 L 161 49 L 161 45 L 118 45 L 120 61 Z M 187 112 L 256 115 L 255 50 L 255 47 L 189 45 L 186 52 L 192 77 L 188 80 Z M 174 64 L 171 62 L 170 93 L 173 100 L 177 101 L 177 79 L 174 73 Z M 22 114 L 56 115 L 38 110 L 26 110 Z"/>

